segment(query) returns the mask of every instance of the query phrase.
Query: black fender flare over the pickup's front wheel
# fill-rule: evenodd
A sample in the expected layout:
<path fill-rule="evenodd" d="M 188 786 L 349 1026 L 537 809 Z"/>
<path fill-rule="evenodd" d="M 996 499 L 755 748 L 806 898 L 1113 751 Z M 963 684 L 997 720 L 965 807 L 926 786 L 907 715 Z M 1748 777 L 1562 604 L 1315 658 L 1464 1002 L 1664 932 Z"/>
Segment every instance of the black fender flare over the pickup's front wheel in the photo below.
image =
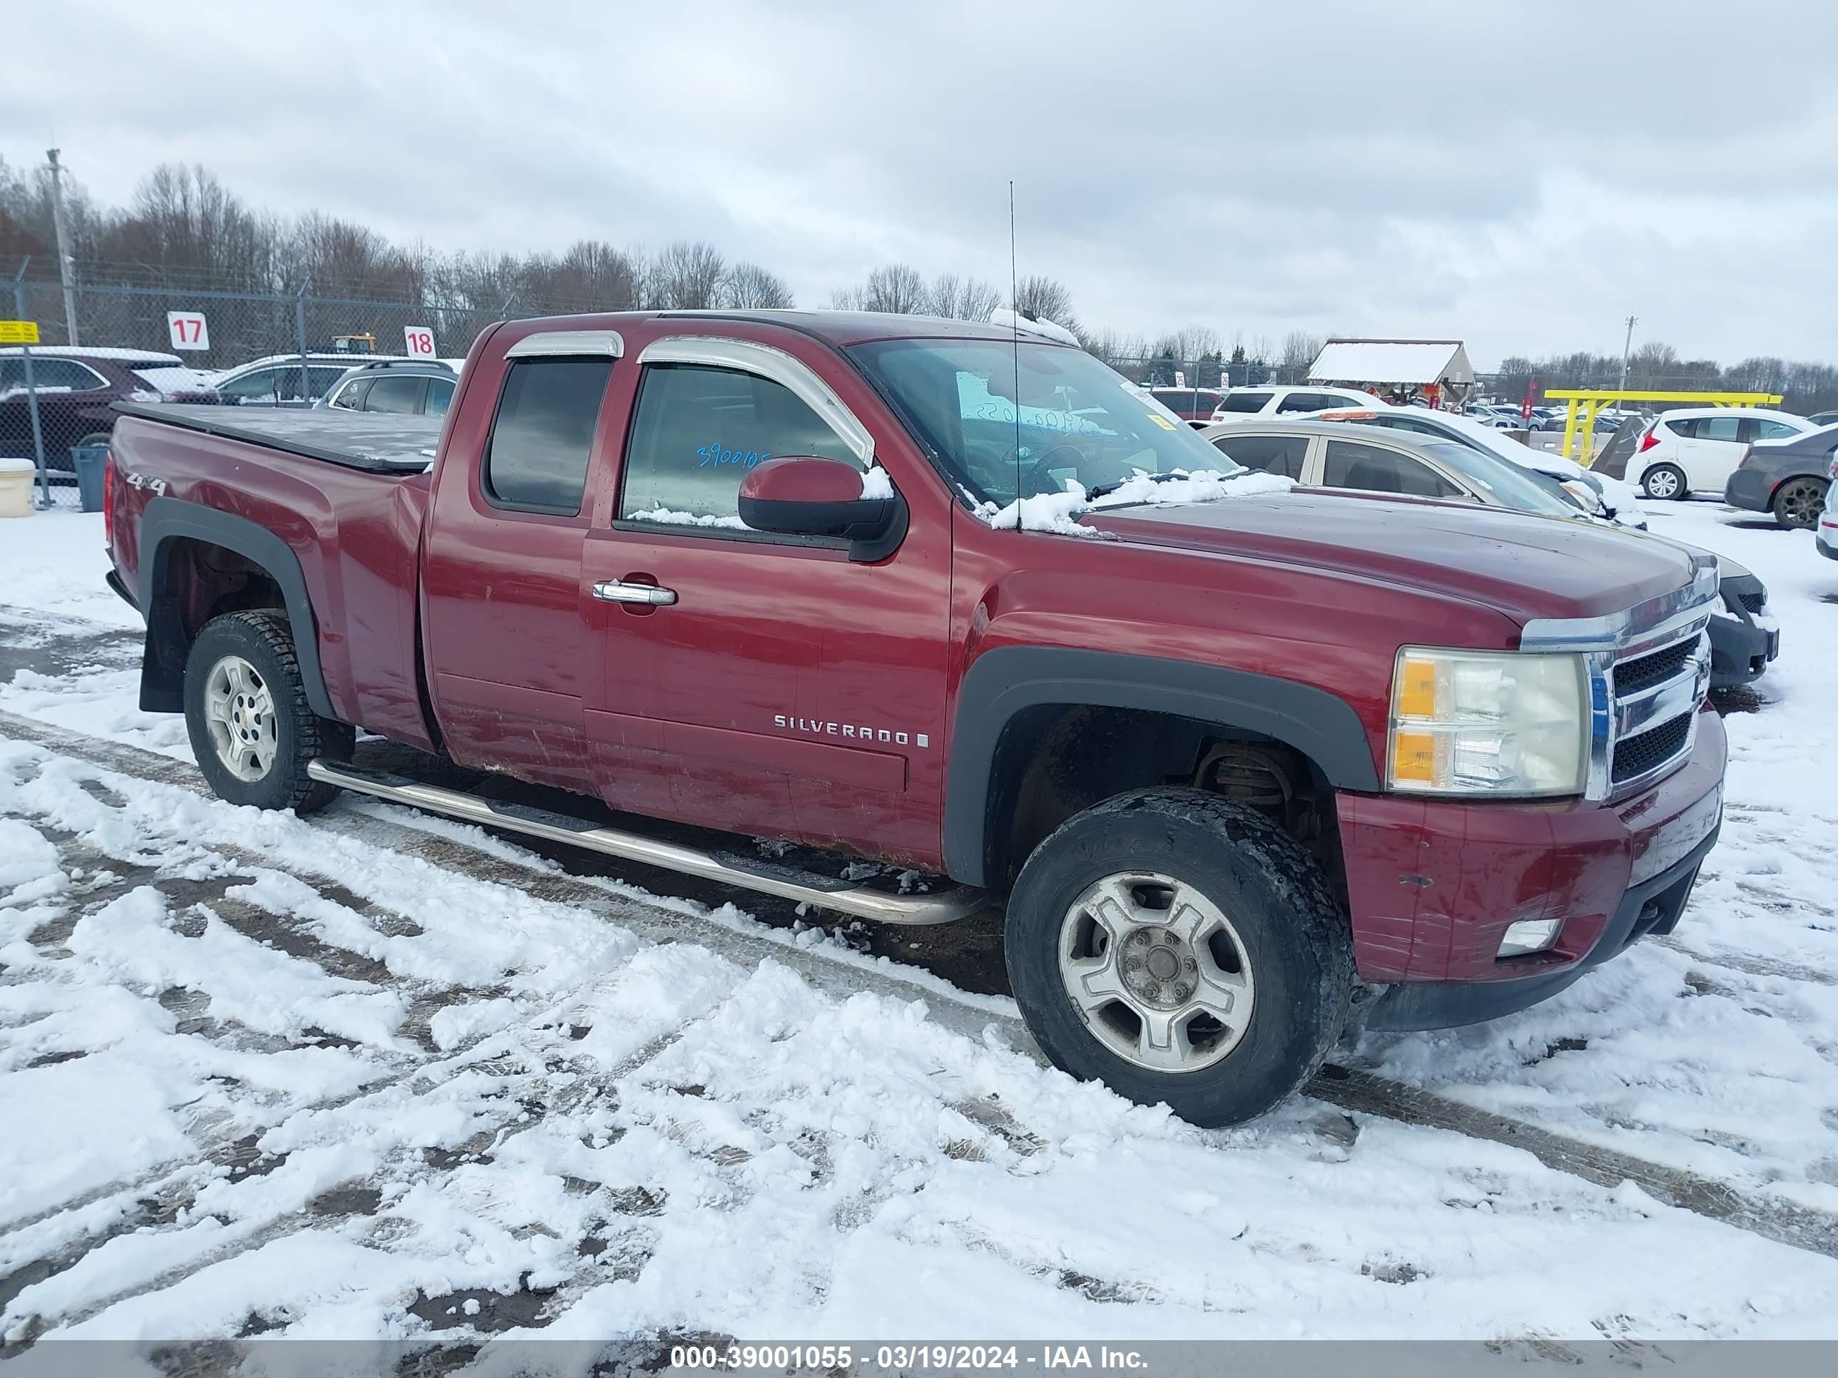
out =
<path fill-rule="evenodd" d="M 1154 656 L 1059 647 L 998 647 L 976 658 L 958 687 L 945 777 L 945 873 L 989 878 L 989 801 L 996 750 L 1016 713 L 1042 704 L 1134 707 L 1255 731 L 1314 761 L 1336 790 L 1377 794 L 1366 724 L 1353 706 L 1314 685 Z"/>

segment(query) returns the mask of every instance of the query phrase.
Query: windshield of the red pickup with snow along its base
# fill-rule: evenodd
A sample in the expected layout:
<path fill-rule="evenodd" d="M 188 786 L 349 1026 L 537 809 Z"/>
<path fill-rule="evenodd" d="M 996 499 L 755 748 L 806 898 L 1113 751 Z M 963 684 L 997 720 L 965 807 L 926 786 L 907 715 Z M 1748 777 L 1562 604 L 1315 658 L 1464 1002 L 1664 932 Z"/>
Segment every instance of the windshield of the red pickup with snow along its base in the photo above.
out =
<path fill-rule="evenodd" d="M 849 355 L 976 502 L 1090 491 L 1136 472 L 1242 472 L 1081 349 L 882 340 Z"/>

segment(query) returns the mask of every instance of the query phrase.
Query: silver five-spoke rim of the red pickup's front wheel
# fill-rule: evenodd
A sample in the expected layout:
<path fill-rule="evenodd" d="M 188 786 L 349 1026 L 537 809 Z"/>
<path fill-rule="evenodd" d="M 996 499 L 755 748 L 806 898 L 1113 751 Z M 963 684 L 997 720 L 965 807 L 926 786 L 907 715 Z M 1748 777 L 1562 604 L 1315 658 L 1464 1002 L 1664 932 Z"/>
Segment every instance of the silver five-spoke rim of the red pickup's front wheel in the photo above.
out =
<path fill-rule="evenodd" d="M 1252 968 L 1231 921 L 1154 871 L 1108 875 L 1072 902 L 1059 976 L 1092 1036 L 1151 1071 L 1209 1067 L 1250 1025 Z"/>

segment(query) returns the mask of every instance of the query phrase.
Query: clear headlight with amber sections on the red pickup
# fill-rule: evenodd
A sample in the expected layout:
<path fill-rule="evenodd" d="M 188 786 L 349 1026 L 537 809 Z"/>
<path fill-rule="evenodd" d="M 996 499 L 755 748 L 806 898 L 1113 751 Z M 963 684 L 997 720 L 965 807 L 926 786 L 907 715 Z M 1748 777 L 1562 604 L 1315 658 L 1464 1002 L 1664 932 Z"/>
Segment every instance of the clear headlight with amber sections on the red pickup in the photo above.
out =
<path fill-rule="evenodd" d="M 1386 786 L 1410 794 L 1583 794 L 1588 667 L 1577 654 L 1404 647 Z"/>

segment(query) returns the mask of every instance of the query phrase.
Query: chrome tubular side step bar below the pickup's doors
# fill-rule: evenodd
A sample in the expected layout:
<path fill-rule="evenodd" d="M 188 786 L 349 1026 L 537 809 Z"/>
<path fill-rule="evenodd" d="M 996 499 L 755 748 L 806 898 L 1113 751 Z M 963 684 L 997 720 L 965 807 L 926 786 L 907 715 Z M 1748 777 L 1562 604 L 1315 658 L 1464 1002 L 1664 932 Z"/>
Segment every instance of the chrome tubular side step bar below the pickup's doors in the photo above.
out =
<path fill-rule="evenodd" d="M 528 805 L 482 799 L 476 794 L 443 790 L 436 785 L 421 785 L 403 775 L 390 775 L 379 770 L 366 770 L 342 761 L 312 761 L 307 774 L 336 785 L 353 794 L 368 794 L 390 803 L 425 808 L 430 814 L 463 818 L 469 823 L 528 832 L 533 838 L 550 841 L 568 841 L 575 847 L 619 856 L 627 862 L 643 862 L 665 871 L 680 871 L 702 880 L 719 880 L 739 889 L 754 889 L 761 895 L 777 895 L 787 900 L 816 904 L 855 919 L 875 919 L 886 924 L 950 924 L 967 919 L 989 906 L 989 897 L 969 886 L 939 895 L 888 895 L 868 889 L 849 880 L 820 876 L 789 865 L 766 860 L 754 860 L 737 853 L 702 853 L 695 847 L 682 847 L 675 841 L 658 841 L 636 832 L 599 827 L 581 818 L 555 814 L 548 808 L 529 808 Z"/>

